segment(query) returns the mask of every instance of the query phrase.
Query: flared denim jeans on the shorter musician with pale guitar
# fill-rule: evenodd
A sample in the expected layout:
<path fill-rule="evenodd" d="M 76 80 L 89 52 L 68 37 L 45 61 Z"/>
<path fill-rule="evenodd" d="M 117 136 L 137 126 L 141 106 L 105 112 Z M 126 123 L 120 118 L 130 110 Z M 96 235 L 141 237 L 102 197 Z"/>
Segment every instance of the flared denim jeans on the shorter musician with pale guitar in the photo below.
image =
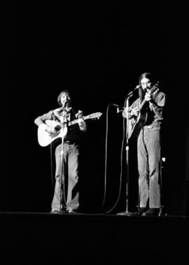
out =
<path fill-rule="evenodd" d="M 56 182 L 55 193 L 52 199 L 52 209 L 62 210 L 62 208 L 66 208 L 67 210 L 76 210 L 79 206 L 79 145 L 75 143 L 64 143 L 63 156 L 61 155 L 61 151 L 62 145 L 58 145 L 55 150 Z"/>

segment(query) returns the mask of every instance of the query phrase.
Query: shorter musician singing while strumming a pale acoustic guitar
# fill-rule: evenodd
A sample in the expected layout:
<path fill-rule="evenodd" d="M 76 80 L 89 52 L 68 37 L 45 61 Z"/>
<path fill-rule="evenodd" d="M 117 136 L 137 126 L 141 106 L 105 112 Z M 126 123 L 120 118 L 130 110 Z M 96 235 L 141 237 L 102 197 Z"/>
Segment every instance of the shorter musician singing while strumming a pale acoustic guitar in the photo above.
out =
<path fill-rule="evenodd" d="M 65 89 L 59 93 L 57 97 L 59 108 L 50 110 L 41 116 L 36 117 L 34 123 L 38 126 L 39 131 L 43 131 L 47 135 L 52 136 L 61 131 L 61 124 L 69 123 L 71 120 L 77 119 L 68 131 L 62 133 L 61 138 L 57 138 L 54 142 L 55 152 L 55 192 L 51 204 L 51 213 L 76 213 L 79 207 L 79 156 L 80 156 L 80 141 L 87 126 L 82 118 L 82 111 L 76 112 L 71 107 L 71 94 Z M 51 125 L 51 122 L 45 124 L 46 121 L 58 122 L 57 127 Z M 64 130 L 63 130 L 64 131 Z M 50 141 L 45 144 L 43 135 L 38 140 L 42 143 L 41 146 L 50 144 Z M 49 136 L 49 138 L 51 138 Z M 59 135 L 58 135 L 59 136 Z"/>

